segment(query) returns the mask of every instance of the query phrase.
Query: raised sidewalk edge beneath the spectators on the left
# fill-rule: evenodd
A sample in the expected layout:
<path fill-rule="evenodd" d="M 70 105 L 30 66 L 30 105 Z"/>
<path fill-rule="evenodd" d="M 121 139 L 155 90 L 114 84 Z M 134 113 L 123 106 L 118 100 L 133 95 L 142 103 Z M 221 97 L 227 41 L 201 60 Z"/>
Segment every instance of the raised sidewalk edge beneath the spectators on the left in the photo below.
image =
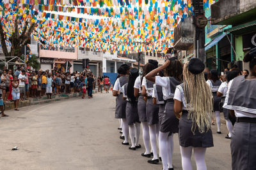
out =
<path fill-rule="evenodd" d="M 93 90 L 93 94 L 97 93 L 97 90 Z M 73 97 L 81 97 L 82 92 L 76 92 L 72 94 L 58 94 L 58 95 L 52 95 L 52 99 L 48 99 L 47 96 L 42 97 L 39 99 L 38 97 L 36 98 L 29 98 L 25 101 L 19 101 L 19 108 L 24 107 L 24 106 L 31 106 L 31 105 L 36 105 L 36 104 L 44 104 L 44 103 L 52 103 L 54 101 L 62 101 L 64 99 L 70 99 Z M 87 96 L 87 92 L 86 92 Z M 5 104 L 5 110 L 12 110 L 14 109 L 14 104 L 13 102 L 7 102 Z"/>

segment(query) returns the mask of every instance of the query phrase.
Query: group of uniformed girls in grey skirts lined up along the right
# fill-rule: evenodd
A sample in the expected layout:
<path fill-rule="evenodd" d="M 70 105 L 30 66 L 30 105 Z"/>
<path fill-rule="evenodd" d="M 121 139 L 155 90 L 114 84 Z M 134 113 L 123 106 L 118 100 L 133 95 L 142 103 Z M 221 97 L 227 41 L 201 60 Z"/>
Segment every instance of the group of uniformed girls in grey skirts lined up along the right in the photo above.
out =
<path fill-rule="evenodd" d="M 130 145 L 130 138 L 129 150 L 141 148 L 142 125 L 145 152 L 141 156 L 151 158 L 150 164 L 161 160 L 164 170 L 173 169 L 173 134 L 177 133 L 182 169 L 192 169 L 193 153 L 196 168 L 205 170 L 206 149 L 214 146 L 212 113 L 216 116 L 216 134 L 221 134 L 223 111 L 229 132 L 226 138 L 231 139 L 232 169 L 255 169 L 256 48 L 243 60 L 250 62 L 250 71 L 241 72 L 233 64 L 221 75 L 196 58 L 182 64 L 172 57 L 159 67 L 156 60 L 148 60 L 141 76 L 136 68 L 120 66 L 113 96 L 122 145 Z"/>

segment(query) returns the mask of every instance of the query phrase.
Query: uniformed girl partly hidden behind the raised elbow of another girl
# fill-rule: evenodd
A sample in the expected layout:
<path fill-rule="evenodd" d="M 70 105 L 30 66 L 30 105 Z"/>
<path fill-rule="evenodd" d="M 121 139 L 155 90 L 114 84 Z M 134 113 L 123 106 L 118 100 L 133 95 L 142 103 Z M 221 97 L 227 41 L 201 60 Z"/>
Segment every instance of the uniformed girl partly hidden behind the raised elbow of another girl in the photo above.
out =
<path fill-rule="evenodd" d="M 148 60 L 148 63 L 144 66 L 144 75 L 148 74 L 153 69 L 156 69 L 158 62 L 156 60 Z M 153 94 L 153 85 L 152 81 L 146 80 L 145 76 L 143 77 L 141 87 L 141 94 L 147 97 L 147 121 L 148 129 L 150 136 L 150 144 L 153 152 L 153 159 L 148 160 L 150 164 L 157 164 L 159 162 L 157 155 L 157 136 L 159 135 L 159 120 L 158 112 L 159 106 L 153 104 L 152 94 Z"/>

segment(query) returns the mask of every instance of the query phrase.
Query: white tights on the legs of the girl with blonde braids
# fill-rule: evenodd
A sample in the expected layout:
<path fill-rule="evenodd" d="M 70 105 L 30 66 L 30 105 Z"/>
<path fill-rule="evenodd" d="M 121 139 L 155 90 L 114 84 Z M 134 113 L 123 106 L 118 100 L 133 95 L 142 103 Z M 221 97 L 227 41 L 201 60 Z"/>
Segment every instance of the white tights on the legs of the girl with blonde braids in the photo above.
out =
<path fill-rule="evenodd" d="M 189 147 L 180 146 L 182 169 L 192 170 L 191 155 L 192 155 L 193 149 L 194 149 L 194 157 L 196 161 L 196 169 L 206 170 L 207 169 L 205 164 L 206 148 L 193 148 L 192 146 L 189 146 Z"/>

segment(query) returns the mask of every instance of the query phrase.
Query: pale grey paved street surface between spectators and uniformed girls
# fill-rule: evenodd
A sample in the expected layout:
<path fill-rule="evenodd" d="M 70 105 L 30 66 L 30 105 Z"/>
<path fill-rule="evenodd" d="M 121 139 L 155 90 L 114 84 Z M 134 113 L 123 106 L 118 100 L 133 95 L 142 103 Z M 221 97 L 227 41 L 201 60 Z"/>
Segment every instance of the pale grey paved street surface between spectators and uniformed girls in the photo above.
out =
<path fill-rule="evenodd" d="M 121 145 L 115 115 L 115 97 L 95 94 L 92 99 L 65 101 L 6 111 L 0 118 L 0 169 L 162 169 Z M 207 149 L 209 170 L 231 169 L 230 140 L 212 127 L 214 147 Z M 142 136 L 142 131 L 141 131 Z M 11 149 L 17 146 L 19 150 Z M 193 158 L 192 158 L 193 159 Z M 175 134 L 174 169 L 181 169 L 178 135 Z M 193 167 L 195 161 L 193 160 Z"/>

